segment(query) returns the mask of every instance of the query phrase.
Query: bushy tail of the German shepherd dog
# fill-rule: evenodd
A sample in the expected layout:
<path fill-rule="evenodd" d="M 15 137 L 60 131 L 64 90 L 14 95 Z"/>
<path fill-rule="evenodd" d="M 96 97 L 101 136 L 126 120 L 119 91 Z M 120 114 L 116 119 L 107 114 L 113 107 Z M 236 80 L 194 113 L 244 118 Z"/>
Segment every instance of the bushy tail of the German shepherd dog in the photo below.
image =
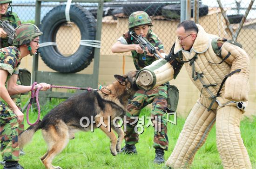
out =
<path fill-rule="evenodd" d="M 34 133 L 41 128 L 42 121 L 39 120 L 39 122 L 36 125 L 32 125 L 28 127 L 27 130 L 22 131 L 18 136 L 19 148 L 22 149 L 26 144 L 28 144 L 32 140 Z"/>

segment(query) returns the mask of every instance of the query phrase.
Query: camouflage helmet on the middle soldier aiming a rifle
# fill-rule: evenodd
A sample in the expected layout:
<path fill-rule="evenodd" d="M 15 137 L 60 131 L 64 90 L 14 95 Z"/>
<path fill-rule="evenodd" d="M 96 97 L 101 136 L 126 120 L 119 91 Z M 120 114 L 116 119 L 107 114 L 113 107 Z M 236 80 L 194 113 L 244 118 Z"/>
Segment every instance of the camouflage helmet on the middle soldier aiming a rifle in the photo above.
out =
<path fill-rule="evenodd" d="M 148 13 L 145 13 L 144 11 L 137 11 L 137 12 L 132 13 L 129 16 L 128 20 L 129 20 L 129 27 L 128 27 L 129 30 L 131 30 L 135 26 L 139 26 L 139 25 L 153 26 L 152 20 L 148 16 Z"/>

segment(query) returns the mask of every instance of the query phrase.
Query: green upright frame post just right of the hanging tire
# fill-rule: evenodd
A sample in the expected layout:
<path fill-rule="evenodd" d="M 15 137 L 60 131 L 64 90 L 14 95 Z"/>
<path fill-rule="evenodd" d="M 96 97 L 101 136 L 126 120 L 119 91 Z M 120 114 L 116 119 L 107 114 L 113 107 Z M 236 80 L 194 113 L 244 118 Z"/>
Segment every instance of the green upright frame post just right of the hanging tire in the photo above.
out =
<path fill-rule="evenodd" d="M 98 4 L 97 11 L 97 29 L 95 40 L 101 40 L 101 27 L 102 27 L 102 15 L 103 15 L 103 6 L 104 0 L 101 0 Z M 99 78 L 99 66 L 100 66 L 100 48 L 94 48 L 94 78 L 93 78 L 93 88 L 98 87 L 98 78 Z"/>

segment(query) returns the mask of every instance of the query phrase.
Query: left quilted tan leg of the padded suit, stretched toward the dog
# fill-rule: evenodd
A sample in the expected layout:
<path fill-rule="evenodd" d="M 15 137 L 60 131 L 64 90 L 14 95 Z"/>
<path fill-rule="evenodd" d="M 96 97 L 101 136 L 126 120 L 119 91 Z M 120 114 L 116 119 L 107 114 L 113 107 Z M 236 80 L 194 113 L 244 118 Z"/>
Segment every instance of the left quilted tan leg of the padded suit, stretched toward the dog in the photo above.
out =
<path fill-rule="evenodd" d="M 183 126 L 175 148 L 166 165 L 172 169 L 188 168 L 196 151 L 204 144 L 215 123 L 216 113 L 207 111 L 199 101 L 195 104 Z"/>

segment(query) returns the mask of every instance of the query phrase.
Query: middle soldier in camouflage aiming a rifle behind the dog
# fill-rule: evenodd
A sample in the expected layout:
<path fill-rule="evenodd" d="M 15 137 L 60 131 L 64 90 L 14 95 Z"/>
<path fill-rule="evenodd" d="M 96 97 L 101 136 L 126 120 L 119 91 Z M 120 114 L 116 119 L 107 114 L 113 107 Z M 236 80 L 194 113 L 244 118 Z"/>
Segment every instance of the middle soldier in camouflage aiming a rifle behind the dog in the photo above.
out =
<path fill-rule="evenodd" d="M 135 31 L 137 35 L 147 38 L 153 46 L 158 48 L 159 52 L 162 53 L 162 56 L 165 56 L 162 42 L 150 28 L 150 26 L 153 25 L 147 13 L 137 11 L 132 13 L 128 20 L 129 31 L 123 34 L 123 36 L 121 36 L 113 45 L 112 52 L 122 53 L 131 51 L 137 70 L 154 62 L 156 60 L 155 56 L 148 53 L 148 51 L 147 54 L 145 54 L 135 39 L 131 38 L 129 32 Z M 133 99 L 129 100 L 128 112 L 126 113 L 128 125 L 127 131 L 125 131 L 125 146 L 122 148 L 122 152 L 126 154 L 137 153 L 135 144 L 138 143 L 139 137 L 134 130 L 137 123 L 130 125 L 130 123 L 135 121 L 135 119 L 131 119 L 130 117 L 139 117 L 141 109 L 152 103 L 152 122 L 155 123 L 156 118 L 159 118 L 159 116 L 161 117 L 161 131 L 155 131 L 154 133 L 153 147 L 155 148 L 156 153 L 154 163 L 164 163 L 164 150 L 168 150 L 167 119 L 165 117 L 168 97 L 167 88 L 167 85 L 161 85 L 149 91 L 138 90 Z"/>

